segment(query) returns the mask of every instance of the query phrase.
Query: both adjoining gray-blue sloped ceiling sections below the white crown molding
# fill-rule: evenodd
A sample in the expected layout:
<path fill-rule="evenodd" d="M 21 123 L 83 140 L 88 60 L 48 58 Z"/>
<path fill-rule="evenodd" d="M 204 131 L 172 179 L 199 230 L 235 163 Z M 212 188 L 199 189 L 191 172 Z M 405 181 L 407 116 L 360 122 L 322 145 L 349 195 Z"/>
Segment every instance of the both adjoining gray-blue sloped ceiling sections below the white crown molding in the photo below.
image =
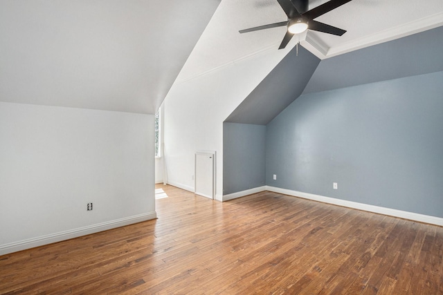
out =
<path fill-rule="evenodd" d="M 225 122 L 266 125 L 301 94 L 442 71 L 441 48 L 443 26 L 321 61 L 293 49 Z"/>

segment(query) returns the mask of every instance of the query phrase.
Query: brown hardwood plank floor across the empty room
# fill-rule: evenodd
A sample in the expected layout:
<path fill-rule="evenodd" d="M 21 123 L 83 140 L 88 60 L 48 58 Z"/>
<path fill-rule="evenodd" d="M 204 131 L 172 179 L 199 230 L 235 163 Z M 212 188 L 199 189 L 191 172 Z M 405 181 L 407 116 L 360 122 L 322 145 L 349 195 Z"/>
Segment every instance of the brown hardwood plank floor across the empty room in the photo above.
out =
<path fill-rule="evenodd" d="M 443 294 L 443 227 L 157 188 L 158 220 L 0 256 L 0 294 Z"/>

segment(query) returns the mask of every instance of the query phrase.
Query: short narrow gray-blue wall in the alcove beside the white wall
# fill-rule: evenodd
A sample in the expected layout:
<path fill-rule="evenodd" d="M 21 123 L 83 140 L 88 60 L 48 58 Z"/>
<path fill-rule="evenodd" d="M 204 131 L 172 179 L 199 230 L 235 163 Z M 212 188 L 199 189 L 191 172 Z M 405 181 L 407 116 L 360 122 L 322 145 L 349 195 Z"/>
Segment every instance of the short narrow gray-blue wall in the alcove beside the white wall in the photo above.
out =
<path fill-rule="evenodd" d="M 266 126 L 223 124 L 223 194 L 264 186 Z"/>

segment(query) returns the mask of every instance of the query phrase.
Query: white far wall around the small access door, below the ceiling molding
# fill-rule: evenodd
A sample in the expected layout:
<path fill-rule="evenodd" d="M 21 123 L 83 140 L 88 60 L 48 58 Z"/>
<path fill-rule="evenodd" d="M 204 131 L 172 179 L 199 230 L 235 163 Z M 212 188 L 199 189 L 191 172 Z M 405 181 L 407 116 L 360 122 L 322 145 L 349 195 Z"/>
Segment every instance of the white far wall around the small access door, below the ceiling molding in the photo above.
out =
<path fill-rule="evenodd" d="M 194 191 L 195 151 L 216 151 L 216 198 L 221 200 L 223 122 L 286 54 L 269 50 L 172 86 L 163 102 L 169 184 Z"/>

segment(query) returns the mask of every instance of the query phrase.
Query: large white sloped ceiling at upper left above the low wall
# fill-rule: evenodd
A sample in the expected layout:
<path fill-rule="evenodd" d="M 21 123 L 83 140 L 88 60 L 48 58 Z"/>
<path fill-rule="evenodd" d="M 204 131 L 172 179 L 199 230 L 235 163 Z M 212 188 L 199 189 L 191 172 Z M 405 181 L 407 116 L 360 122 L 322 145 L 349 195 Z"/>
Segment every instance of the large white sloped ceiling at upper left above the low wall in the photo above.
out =
<path fill-rule="evenodd" d="M 0 101 L 155 113 L 220 0 L 1 0 Z"/>

